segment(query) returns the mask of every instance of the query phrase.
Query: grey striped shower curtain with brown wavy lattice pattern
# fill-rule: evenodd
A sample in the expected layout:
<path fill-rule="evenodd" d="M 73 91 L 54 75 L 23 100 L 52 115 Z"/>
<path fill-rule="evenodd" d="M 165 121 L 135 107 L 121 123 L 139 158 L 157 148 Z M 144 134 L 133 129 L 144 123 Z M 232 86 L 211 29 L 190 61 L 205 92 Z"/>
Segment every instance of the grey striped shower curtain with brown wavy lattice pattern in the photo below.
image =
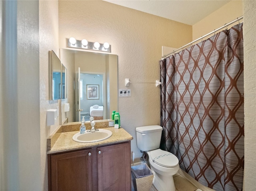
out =
<path fill-rule="evenodd" d="M 161 60 L 160 68 L 161 148 L 201 184 L 242 190 L 242 24 Z"/>

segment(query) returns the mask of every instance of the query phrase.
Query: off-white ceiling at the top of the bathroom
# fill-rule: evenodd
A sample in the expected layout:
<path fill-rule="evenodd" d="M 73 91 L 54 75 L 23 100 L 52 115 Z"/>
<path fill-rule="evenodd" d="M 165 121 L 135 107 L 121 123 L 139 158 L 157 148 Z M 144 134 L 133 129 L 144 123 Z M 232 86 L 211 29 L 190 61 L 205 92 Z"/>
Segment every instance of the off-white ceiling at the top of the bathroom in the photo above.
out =
<path fill-rule="evenodd" d="M 156 16 L 194 25 L 230 0 L 105 0 Z"/>

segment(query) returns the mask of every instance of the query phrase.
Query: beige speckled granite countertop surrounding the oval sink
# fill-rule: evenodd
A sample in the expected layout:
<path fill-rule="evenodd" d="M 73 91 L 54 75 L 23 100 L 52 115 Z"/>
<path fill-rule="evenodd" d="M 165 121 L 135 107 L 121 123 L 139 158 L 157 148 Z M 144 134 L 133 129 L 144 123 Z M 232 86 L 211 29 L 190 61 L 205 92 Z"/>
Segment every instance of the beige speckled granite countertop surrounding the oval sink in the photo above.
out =
<path fill-rule="evenodd" d="M 47 151 L 47 154 L 53 154 L 57 152 L 64 152 L 82 148 L 91 148 L 94 146 L 103 146 L 106 144 L 118 143 L 118 142 L 125 142 L 132 140 L 133 137 L 126 132 L 123 128 L 114 129 L 114 127 L 107 127 L 104 128 L 110 130 L 112 132 L 112 136 L 108 139 L 99 142 L 92 142 L 92 143 L 79 143 L 75 142 L 72 137 L 74 134 L 78 133 L 79 131 L 71 131 L 71 132 L 62 132 L 58 136 L 58 139 L 52 146 L 50 150 Z"/>

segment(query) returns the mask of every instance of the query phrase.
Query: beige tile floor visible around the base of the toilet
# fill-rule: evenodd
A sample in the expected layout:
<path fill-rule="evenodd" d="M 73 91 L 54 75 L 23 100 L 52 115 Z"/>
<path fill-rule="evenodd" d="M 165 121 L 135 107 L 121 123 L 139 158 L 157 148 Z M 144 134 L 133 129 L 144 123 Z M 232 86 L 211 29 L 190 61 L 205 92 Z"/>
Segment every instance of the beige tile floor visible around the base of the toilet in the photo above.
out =
<path fill-rule="evenodd" d="M 197 188 L 192 185 L 187 179 L 185 179 L 180 173 L 176 173 L 173 176 L 176 191 L 196 191 Z M 154 185 L 152 185 L 150 191 L 158 191 Z"/>

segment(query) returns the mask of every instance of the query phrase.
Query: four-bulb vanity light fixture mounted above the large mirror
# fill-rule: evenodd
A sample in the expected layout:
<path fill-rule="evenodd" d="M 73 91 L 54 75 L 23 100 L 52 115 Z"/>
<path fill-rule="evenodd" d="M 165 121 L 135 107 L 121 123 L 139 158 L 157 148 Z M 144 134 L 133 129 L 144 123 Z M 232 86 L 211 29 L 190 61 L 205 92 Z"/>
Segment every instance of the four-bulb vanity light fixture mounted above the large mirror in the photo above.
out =
<path fill-rule="evenodd" d="M 74 37 L 67 39 L 67 45 L 71 48 L 97 50 L 103 52 L 111 52 L 111 45 L 107 42 L 104 44 L 98 42 L 88 42 L 86 39 L 76 40 Z"/>

